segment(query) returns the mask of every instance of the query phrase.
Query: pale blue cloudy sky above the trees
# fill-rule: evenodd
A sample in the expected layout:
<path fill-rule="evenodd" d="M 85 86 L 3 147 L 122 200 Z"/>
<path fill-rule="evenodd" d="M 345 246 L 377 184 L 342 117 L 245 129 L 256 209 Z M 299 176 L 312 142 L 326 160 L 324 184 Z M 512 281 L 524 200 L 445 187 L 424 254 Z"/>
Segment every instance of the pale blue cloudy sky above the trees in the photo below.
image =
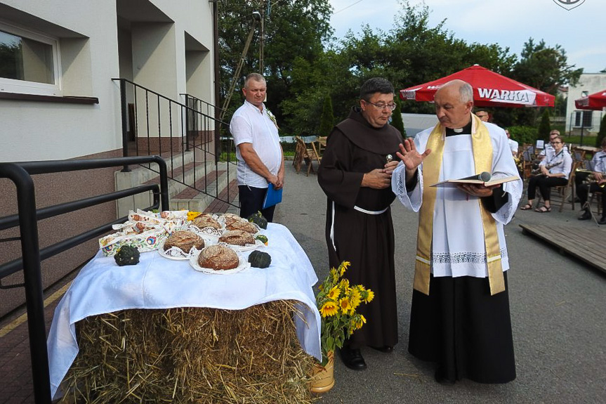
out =
<path fill-rule="evenodd" d="M 360 32 L 362 25 L 389 31 L 400 11 L 397 0 L 329 0 L 333 7 L 331 25 L 337 38 L 348 30 Z M 574 3 L 567 10 L 562 3 Z M 545 40 L 559 44 L 568 63 L 585 73 L 606 68 L 604 16 L 606 0 L 425 0 L 430 10 L 429 25 L 444 22 L 456 39 L 468 43 L 499 44 L 520 56 L 524 43 Z M 423 4 L 409 0 L 409 4 Z"/>

